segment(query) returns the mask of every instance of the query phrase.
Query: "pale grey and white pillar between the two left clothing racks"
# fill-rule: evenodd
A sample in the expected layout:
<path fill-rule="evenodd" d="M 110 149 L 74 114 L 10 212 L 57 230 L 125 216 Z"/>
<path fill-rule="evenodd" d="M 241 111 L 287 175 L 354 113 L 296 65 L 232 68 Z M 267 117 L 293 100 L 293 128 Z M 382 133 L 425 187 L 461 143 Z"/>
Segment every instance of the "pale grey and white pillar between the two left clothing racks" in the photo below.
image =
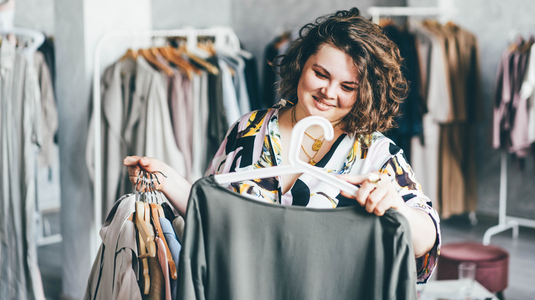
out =
<path fill-rule="evenodd" d="M 53 19 L 62 195 L 62 296 L 82 299 L 100 245 L 85 157 L 95 46 L 111 30 L 150 29 L 150 1 L 56 0 Z M 117 60 L 126 49 L 115 41 L 105 46 L 101 51 L 104 65 Z"/>

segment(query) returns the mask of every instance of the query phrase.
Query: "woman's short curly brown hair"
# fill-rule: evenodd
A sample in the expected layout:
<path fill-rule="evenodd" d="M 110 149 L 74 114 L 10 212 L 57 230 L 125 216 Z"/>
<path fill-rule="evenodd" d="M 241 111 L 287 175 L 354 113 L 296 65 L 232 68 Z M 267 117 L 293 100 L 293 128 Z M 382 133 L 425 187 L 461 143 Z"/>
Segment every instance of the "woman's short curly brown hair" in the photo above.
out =
<path fill-rule="evenodd" d="M 322 45 L 333 45 L 344 51 L 357 66 L 357 99 L 342 119 L 343 129 L 350 134 L 368 135 L 395 127 L 394 118 L 409 89 L 401 73 L 402 58 L 381 27 L 361 16 L 357 8 L 320 16 L 299 30 L 299 38 L 292 42 L 287 53 L 272 62 L 281 75 L 281 95 L 292 102 L 298 101 L 302 68 Z"/>

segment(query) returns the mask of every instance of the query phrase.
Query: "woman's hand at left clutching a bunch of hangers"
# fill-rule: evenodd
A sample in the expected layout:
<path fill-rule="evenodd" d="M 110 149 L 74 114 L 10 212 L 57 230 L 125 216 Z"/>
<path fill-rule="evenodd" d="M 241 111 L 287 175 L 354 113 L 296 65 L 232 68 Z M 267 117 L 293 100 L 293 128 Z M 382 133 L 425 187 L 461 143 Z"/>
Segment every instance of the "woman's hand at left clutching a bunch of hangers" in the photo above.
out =
<path fill-rule="evenodd" d="M 130 182 L 132 182 L 132 186 L 135 188 L 135 190 L 144 191 L 143 186 L 143 174 L 140 175 L 141 171 L 147 171 L 152 173 L 152 177 L 154 180 L 152 182 L 154 183 L 154 188 L 156 190 L 162 190 L 166 179 L 171 172 L 171 167 L 169 167 L 165 162 L 162 162 L 161 160 L 158 160 L 156 158 L 147 158 L 145 156 L 127 156 L 123 160 L 123 164 L 128 167 L 128 177 L 130 178 Z M 161 172 L 161 173 L 160 173 Z M 163 176 L 162 173 L 165 175 Z M 157 177 L 154 178 L 154 176 Z M 150 179 L 148 175 L 145 176 L 146 179 Z"/>

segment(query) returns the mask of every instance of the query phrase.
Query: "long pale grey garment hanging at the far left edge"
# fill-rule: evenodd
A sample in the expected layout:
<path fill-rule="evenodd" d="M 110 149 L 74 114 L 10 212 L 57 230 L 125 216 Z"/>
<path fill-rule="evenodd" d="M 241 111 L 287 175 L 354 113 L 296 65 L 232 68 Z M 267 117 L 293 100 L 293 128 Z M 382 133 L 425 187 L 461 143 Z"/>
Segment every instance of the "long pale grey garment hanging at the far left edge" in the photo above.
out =
<path fill-rule="evenodd" d="M 0 299 L 45 299 L 34 225 L 40 97 L 33 64 L 0 47 Z"/>

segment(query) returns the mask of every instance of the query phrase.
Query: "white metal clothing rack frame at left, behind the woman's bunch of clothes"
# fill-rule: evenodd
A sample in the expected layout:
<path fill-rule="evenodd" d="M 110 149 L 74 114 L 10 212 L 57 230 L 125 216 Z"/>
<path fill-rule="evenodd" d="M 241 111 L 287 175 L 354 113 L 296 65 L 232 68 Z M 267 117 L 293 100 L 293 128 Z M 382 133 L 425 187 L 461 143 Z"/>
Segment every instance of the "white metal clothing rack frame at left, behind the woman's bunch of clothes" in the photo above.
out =
<path fill-rule="evenodd" d="M 116 38 L 166 38 L 166 37 L 184 37 L 186 38 L 187 49 L 195 49 L 199 36 L 214 37 L 214 47 L 227 47 L 239 51 L 239 39 L 230 27 L 210 27 L 206 29 L 196 29 L 185 27 L 182 29 L 171 30 L 141 30 L 141 31 L 115 31 L 108 32 L 99 38 L 95 46 L 95 58 L 93 61 L 93 115 L 95 116 L 95 178 L 93 186 L 93 208 L 95 224 L 91 230 L 93 238 L 90 241 L 91 257 L 96 257 L 99 248 L 99 229 L 102 225 L 102 142 L 101 142 L 101 90 L 100 90 L 100 55 L 105 42 Z"/>

